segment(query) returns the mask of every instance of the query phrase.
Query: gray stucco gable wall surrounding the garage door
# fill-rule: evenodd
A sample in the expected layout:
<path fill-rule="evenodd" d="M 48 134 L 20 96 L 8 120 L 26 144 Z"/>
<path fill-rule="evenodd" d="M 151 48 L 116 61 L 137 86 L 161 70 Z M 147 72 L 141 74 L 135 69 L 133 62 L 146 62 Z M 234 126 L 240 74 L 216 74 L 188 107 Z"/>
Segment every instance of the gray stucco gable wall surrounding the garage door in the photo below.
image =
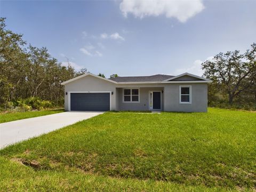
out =
<path fill-rule="evenodd" d="M 70 82 L 65 85 L 65 93 L 72 91 L 113 91 L 114 94 L 110 94 L 111 98 L 111 110 L 116 110 L 116 86 L 114 83 L 107 82 L 103 79 L 99 79 L 93 76 L 85 76 Z M 65 94 L 65 110 L 68 110 L 68 98 L 69 94 Z"/>

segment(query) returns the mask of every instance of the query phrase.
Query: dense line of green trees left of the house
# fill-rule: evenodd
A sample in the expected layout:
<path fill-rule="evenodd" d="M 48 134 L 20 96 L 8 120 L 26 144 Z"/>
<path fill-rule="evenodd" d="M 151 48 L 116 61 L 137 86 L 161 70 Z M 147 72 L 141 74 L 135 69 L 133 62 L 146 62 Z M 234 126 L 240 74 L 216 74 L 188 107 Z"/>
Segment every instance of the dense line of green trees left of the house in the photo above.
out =
<path fill-rule="evenodd" d="M 61 82 L 84 73 L 71 65 L 62 66 L 51 57 L 46 47 L 28 45 L 22 35 L 6 29 L 0 18 L 0 107 L 8 108 L 13 101 L 37 97 L 63 105 Z"/>

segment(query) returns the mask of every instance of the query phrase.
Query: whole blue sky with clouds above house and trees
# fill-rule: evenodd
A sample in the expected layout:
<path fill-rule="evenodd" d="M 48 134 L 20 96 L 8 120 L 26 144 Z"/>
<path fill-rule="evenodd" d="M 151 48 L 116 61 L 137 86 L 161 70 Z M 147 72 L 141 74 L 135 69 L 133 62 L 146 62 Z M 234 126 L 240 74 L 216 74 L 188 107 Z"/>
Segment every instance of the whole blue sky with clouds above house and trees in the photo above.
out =
<path fill-rule="evenodd" d="M 202 75 L 200 63 L 256 43 L 256 1 L 2 1 L 7 28 L 79 70 Z"/>

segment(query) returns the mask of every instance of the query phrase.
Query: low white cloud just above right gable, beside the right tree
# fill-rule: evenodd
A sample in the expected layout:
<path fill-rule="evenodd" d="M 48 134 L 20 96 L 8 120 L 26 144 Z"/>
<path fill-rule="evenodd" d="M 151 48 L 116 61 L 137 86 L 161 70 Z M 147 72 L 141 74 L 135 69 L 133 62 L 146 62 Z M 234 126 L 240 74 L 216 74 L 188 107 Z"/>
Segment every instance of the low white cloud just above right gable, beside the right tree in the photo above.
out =
<path fill-rule="evenodd" d="M 213 61 L 213 57 L 208 57 L 205 59 L 206 60 L 210 60 L 210 61 Z M 201 64 L 203 63 L 204 61 L 198 59 L 198 60 L 195 60 L 193 62 L 193 64 L 188 67 L 188 68 L 180 68 L 180 69 L 177 69 L 175 70 L 175 75 L 179 75 L 179 74 L 182 74 L 182 73 L 191 73 L 191 74 L 194 74 L 194 75 L 198 75 L 198 76 L 202 76 L 204 71 L 201 69 Z"/>

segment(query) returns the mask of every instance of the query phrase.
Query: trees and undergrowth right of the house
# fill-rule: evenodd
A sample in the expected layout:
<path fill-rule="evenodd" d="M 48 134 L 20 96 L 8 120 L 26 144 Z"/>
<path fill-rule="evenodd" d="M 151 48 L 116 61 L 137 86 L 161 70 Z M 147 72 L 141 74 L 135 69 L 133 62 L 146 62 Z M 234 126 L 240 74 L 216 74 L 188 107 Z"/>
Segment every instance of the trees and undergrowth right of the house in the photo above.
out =
<path fill-rule="evenodd" d="M 218 107 L 256 109 L 256 44 L 245 53 L 220 52 L 202 63 L 209 84 L 209 104 Z"/>

